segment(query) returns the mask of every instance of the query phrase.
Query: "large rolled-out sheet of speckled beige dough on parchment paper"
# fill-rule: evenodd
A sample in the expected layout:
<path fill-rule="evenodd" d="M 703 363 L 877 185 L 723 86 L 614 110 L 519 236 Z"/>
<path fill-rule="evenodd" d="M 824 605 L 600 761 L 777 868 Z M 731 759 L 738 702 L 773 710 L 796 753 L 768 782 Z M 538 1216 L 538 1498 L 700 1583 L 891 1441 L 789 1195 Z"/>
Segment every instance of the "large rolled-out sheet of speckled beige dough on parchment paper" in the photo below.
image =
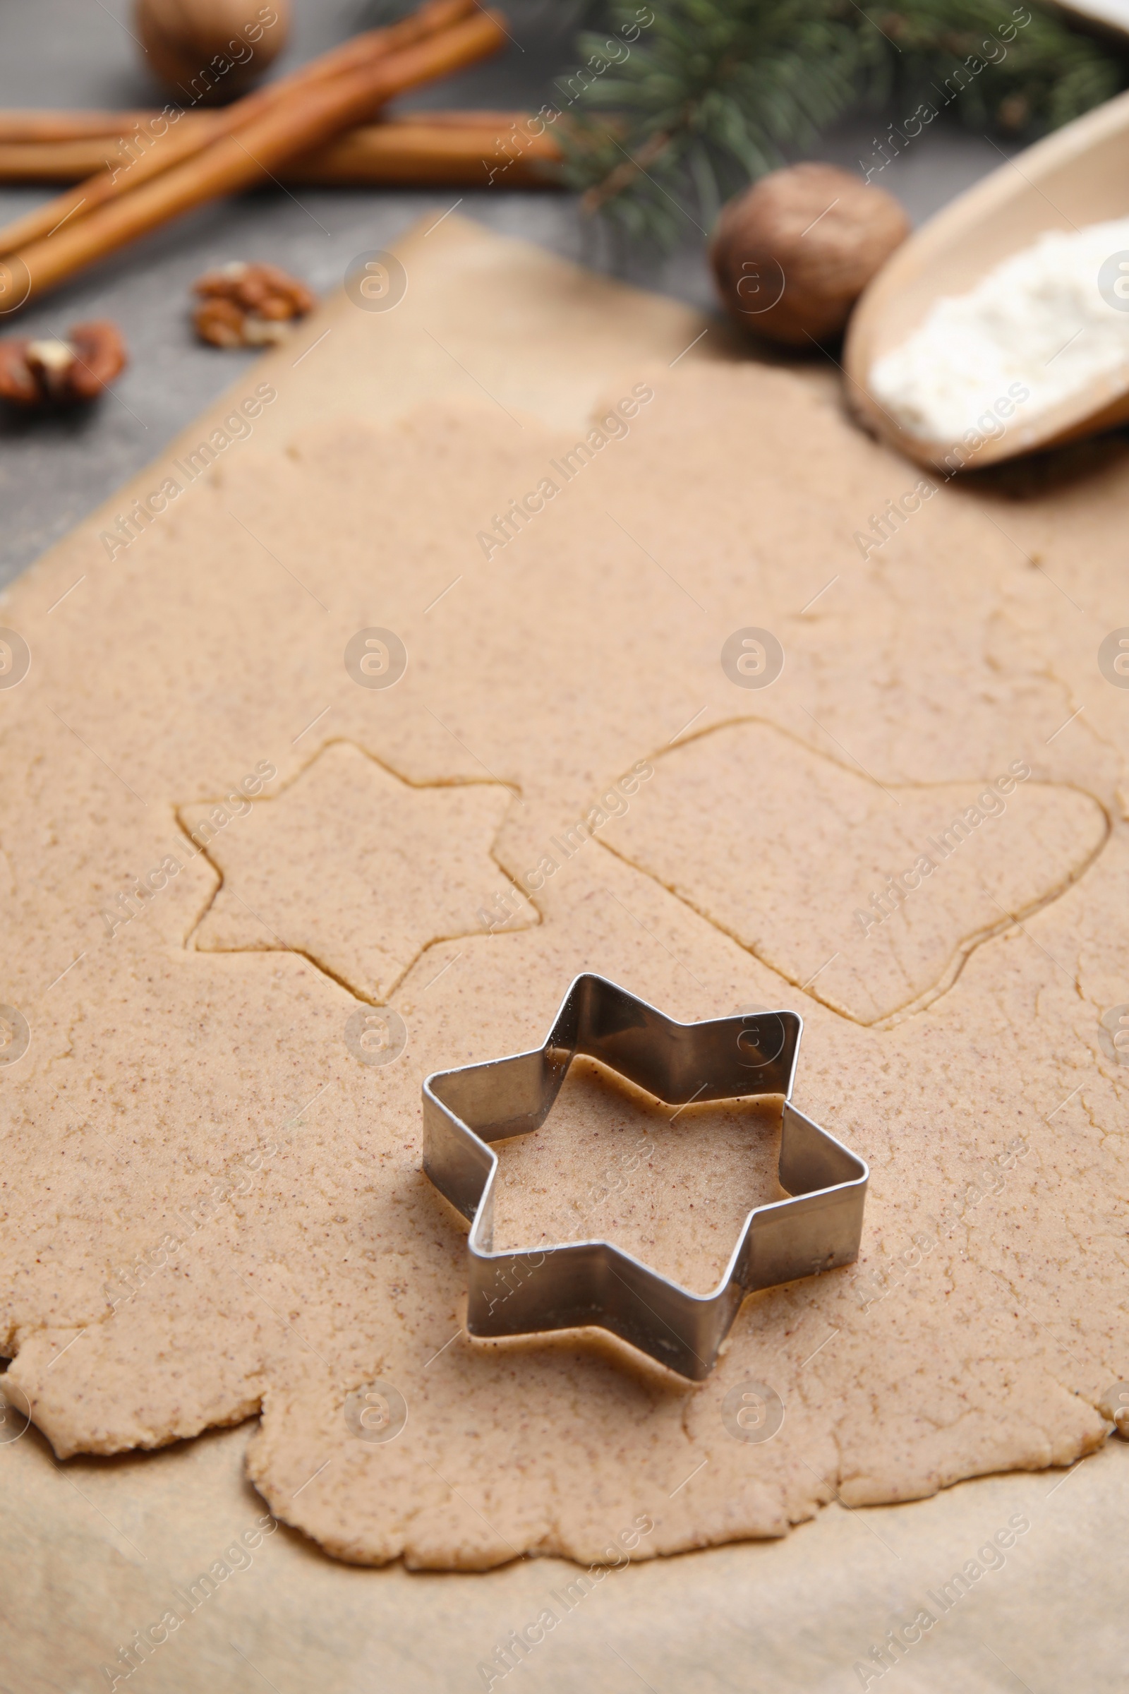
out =
<path fill-rule="evenodd" d="M 32 650 L 0 691 L 0 1001 L 30 1027 L 0 1066 L 0 1337 L 59 1455 L 261 1413 L 279 1518 L 486 1569 L 601 1560 L 642 1518 L 643 1558 L 782 1535 L 1105 1438 L 1124 449 L 1024 498 L 941 488 L 863 561 L 916 473 L 829 393 L 686 361 L 609 398 L 636 383 L 567 483 L 574 434 L 486 398 L 245 442 L 54 610 L 66 552 L 0 608 Z M 367 627 L 408 650 L 391 688 L 345 667 Z M 784 647 L 772 686 L 723 669 L 746 627 Z M 682 1020 L 801 1011 L 797 1104 L 872 1165 L 858 1265 L 748 1299 L 702 1384 L 596 1331 L 462 1331 L 420 1082 L 538 1045 L 579 971 Z M 372 1064 L 345 1027 L 384 1001 L 408 1040 Z M 501 1150 L 499 1228 L 606 1230 L 708 1286 L 779 1193 L 775 1135 L 577 1066 Z M 767 1442 L 723 1416 L 750 1381 L 785 1408 Z M 403 1430 L 354 1433 L 388 1389 Z"/>

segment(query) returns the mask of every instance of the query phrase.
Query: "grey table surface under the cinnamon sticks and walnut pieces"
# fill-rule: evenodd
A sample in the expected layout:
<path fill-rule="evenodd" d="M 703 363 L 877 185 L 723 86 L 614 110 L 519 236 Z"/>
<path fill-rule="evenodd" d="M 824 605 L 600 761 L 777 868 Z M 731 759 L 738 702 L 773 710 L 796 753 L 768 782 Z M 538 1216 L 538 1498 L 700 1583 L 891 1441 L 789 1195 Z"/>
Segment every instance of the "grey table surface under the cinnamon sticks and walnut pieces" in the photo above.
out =
<path fill-rule="evenodd" d="M 570 63 L 576 8 L 560 0 L 513 0 L 513 44 L 498 59 L 418 91 L 415 107 L 531 107 Z M 295 0 L 295 27 L 273 75 L 379 22 L 366 0 Z M 0 8 L 0 105 L 146 107 L 157 103 L 134 37 L 132 0 L 5 0 Z M 878 113 L 841 125 L 816 149 L 856 168 L 873 156 Z M 882 171 L 916 222 L 1000 164 L 995 141 L 933 125 Z M 0 219 L 52 190 L 0 190 Z M 69 417 L 0 417 L 0 586 L 64 535 L 134 471 L 151 461 L 254 354 L 201 346 L 188 320 L 190 288 L 229 259 L 283 264 L 318 293 L 340 283 L 349 261 L 389 246 L 425 212 L 462 198 L 460 212 L 503 234 L 643 286 L 713 307 L 699 230 L 687 220 L 682 247 L 664 259 L 623 251 L 557 191 L 322 190 L 269 186 L 179 219 L 85 271 L 37 305 L 0 324 L 0 334 L 64 334 L 90 317 L 115 318 L 130 366 L 96 407 Z"/>

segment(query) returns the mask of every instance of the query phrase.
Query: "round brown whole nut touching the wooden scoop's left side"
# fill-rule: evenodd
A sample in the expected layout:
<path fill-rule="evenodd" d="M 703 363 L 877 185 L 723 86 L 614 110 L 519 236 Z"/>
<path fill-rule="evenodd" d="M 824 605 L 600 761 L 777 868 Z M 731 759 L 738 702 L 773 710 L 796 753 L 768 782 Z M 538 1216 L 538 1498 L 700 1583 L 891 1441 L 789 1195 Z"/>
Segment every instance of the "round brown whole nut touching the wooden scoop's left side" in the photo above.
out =
<path fill-rule="evenodd" d="M 834 164 L 792 164 L 723 207 L 709 257 L 738 324 L 804 347 L 838 335 L 907 235 L 909 219 L 882 188 Z"/>

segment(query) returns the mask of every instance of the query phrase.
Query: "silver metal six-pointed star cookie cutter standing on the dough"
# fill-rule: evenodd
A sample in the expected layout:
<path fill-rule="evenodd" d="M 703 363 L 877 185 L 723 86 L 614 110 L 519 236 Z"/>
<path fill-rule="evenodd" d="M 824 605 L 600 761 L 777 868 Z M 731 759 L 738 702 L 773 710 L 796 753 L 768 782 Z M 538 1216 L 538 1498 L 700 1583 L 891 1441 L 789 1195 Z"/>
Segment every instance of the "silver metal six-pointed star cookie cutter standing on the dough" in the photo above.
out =
<path fill-rule="evenodd" d="M 796 1011 L 675 1023 L 603 976 L 577 976 L 545 1045 L 433 1071 L 423 1082 L 423 1169 L 471 1220 L 467 1333 L 528 1335 L 598 1325 L 701 1381 L 745 1294 L 858 1257 L 865 1162 L 792 1104 Z M 498 1154 L 548 1116 L 576 1054 L 599 1059 L 670 1104 L 782 1094 L 780 1186 L 755 1206 L 711 1294 L 691 1294 L 609 1242 L 493 1252 Z"/>

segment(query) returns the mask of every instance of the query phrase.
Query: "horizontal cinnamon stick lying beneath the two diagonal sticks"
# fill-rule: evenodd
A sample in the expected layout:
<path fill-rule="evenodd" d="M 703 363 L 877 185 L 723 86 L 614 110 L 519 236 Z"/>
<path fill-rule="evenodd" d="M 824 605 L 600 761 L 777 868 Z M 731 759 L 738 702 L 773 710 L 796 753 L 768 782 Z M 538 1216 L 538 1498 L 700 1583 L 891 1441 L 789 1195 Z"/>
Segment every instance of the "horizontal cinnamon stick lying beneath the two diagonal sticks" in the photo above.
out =
<path fill-rule="evenodd" d="M 420 112 L 362 124 L 281 164 L 279 181 L 320 186 L 455 183 L 538 186 L 560 158 L 550 130 L 533 136 L 525 112 Z M 73 183 L 100 169 L 115 136 L 0 141 L 0 183 Z M 491 176 L 491 173 L 494 173 Z"/>

